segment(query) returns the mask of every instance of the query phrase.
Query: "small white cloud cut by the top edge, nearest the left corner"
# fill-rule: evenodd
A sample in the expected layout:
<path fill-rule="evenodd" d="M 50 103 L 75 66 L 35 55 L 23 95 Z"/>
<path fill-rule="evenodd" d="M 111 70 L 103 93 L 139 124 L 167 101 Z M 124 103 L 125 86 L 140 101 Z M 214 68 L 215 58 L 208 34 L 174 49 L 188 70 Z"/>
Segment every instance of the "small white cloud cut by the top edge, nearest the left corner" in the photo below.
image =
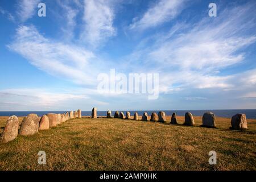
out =
<path fill-rule="evenodd" d="M 18 1 L 17 14 L 22 22 L 26 22 L 33 15 L 37 15 L 36 8 L 38 7 L 39 0 L 20 0 Z"/>

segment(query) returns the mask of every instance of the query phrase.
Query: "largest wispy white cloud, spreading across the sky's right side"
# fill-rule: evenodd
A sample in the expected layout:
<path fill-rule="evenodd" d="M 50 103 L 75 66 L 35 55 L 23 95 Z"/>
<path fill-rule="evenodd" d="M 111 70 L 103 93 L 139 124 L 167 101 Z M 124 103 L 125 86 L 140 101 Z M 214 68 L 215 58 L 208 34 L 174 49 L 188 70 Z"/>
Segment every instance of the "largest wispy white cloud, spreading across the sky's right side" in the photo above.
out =
<path fill-rule="evenodd" d="M 250 33 L 256 27 L 255 18 L 248 14 L 254 12 L 253 7 L 247 3 L 220 11 L 216 19 L 177 23 L 170 32 L 142 40 L 126 65 L 133 65 L 130 69 L 134 71 L 160 73 L 160 90 L 166 93 L 176 85 L 184 90 L 237 88 L 235 73 L 219 73 L 242 64 L 246 58 L 244 48 L 255 44 L 256 36 Z M 242 85 L 256 80 L 252 72 L 241 75 L 245 79 Z"/>

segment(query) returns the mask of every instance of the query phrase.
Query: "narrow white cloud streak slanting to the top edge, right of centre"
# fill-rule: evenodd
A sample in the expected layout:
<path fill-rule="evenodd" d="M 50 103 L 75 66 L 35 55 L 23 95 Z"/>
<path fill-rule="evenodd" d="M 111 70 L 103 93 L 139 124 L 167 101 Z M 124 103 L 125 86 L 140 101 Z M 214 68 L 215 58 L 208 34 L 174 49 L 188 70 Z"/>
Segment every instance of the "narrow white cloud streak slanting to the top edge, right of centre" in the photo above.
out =
<path fill-rule="evenodd" d="M 159 0 L 144 13 L 142 18 L 134 18 L 130 29 L 156 27 L 174 19 L 184 9 L 184 0 Z"/>

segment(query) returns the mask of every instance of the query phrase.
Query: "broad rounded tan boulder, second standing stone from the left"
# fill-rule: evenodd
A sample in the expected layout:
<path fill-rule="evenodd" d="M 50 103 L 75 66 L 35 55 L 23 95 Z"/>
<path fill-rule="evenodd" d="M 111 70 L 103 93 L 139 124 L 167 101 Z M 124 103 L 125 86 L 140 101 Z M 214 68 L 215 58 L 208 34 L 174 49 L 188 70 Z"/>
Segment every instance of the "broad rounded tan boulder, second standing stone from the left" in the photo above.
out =
<path fill-rule="evenodd" d="M 28 114 L 22 121 L 19 135 L 34 135 L 38 133 L 39 118 L 36 114 Z"/>

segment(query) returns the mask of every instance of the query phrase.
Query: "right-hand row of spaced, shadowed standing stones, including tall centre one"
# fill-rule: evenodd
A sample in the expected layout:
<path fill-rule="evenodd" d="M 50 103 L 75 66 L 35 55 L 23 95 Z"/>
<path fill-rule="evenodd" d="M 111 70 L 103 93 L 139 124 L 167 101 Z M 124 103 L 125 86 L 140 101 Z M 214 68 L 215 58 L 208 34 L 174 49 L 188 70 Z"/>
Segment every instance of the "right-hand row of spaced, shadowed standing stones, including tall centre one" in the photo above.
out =
<path fill-rule="evenodd" d="M 106 114 L 107 118 L 112 118 L 112 112 L 108 110 Z M 93 107 L 92 110 L 92 118 L 97 118 L 97 108 Z M 127 111 L 126 115 L 121 112 L 119 114 L 118 111 L 115 111 L 114 118 L 121 118 L 121 119 L 131 119 L 130 112 Z M 216 127 L 216 122 L 215 122 L 215 114 L 212 112 L 204 113 L 202 122 L 203 122 L 203 127 Z M 138 113 L 134 113 L 133 120 L 139 120 Z M 159 111 L 158 115 L 156 113 L 151 114 L 151 118 L 149 119 L 148 115 L 146 112 L 143 113 L 142 115 L 142 121 L 158 121 L 158 122 L 166 122 L 166 113 L 164 111 Z M 176 125 L 177 124 L 177 119 L 176 119 L 176 113 L 172 113 L 171 117 L 171 124 Z M 195 121 L 193 119 L 193 115 L 191 113 L 185 113 L 185 122 L 184 125 L 188 126 L 195 126 Z M 246 115 L 245 114 L 236 114 L 232 117 L 231 119 L 231 125 L 232 129 L 236 130 L 241 130 L 241 129 L 247 129 L 247 121 L 246 121 Z"/>

